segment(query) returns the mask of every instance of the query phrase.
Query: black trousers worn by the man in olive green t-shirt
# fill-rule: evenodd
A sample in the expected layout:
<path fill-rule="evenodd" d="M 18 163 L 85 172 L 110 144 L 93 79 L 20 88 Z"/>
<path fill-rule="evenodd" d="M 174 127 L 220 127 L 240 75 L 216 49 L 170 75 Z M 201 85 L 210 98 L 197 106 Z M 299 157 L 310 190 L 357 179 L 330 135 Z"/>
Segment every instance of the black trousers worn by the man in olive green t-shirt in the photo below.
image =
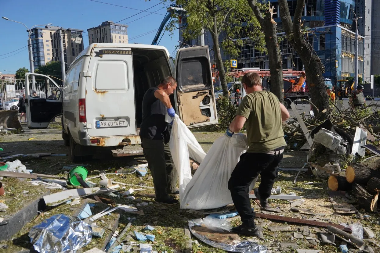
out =
<path fill-rule="evenodd" d="M 249 199 L 249 186 L 260 174 L 261 183 L 259 185 L 260 197 L 265 200 L 271 196 L 274 179 L 277 178 L 277 166 L 282 160 L 283 154 L 256 154 L 244 153 L 232 171 L 228 181 L 228 189 L 240 215 L 241 221 L 249 226 L 255 224 L 255 212 L 252 211 Z"/>

